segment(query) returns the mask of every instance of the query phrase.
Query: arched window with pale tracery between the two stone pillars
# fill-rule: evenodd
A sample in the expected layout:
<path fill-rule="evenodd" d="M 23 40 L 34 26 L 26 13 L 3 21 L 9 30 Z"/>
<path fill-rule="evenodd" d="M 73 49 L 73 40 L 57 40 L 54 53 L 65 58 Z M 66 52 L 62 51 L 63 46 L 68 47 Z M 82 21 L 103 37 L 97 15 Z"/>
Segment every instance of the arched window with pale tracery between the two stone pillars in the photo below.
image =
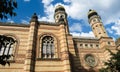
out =
<path fill-rule="evenodd" d="M 54 58 L 54 39 L 51 36 L 45 36 L 42 39 L 42 58 Z"/>

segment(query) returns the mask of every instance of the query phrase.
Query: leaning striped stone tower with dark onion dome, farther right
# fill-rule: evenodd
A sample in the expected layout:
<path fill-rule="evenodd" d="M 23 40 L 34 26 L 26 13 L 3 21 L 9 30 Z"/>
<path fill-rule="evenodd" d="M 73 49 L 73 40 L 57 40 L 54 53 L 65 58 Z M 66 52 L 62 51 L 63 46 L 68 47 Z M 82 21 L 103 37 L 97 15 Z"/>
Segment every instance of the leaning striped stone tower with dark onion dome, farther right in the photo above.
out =
<path fill-rule="evenodd" d="M 92 27 L 95 37 L 108 37 L 106 30 L 101 22 L 101 18 L 95 10 L 89 10 L 88 21 Z"/>

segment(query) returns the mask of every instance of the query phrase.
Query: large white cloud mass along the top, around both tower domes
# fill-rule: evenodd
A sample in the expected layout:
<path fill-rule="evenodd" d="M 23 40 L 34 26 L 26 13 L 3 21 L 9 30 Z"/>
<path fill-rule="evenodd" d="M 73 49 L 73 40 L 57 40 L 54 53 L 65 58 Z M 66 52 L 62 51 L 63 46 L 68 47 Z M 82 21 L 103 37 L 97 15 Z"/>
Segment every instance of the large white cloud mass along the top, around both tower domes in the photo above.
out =
<path fill-rule="evenodd" d="M 65 7 L 69 17 L 77 20 L 83 19 L 86 22 L 89 9 L 95 9 L 102 17 L 102 21 L 105 24 L 113 22 L 120 16 L 119 0 L 63 0 L 64 3 L 69 4 L 52 4 L 52 2 L 53 0 L 42 0 L 45 8 L 45 13 L 49 18 L 53 17 L 49 15 L 54 14 L 54 7 L 58 4 L 61 4 Z"/>

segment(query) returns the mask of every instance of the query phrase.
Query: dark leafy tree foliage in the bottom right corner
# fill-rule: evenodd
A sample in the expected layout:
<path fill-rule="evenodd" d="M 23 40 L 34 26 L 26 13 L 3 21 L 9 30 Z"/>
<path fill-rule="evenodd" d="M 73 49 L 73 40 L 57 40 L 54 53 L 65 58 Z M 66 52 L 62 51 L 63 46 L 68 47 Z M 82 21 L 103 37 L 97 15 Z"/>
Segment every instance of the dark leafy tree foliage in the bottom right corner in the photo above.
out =
<path fill-rule="evenodd" d="M 107 49 L 111 55 L 110 59 L 104 63 L 105 68 L 101 68 L 100 72 L 120 72 L 120 50 L 117 49 L 116 53 Z"/>

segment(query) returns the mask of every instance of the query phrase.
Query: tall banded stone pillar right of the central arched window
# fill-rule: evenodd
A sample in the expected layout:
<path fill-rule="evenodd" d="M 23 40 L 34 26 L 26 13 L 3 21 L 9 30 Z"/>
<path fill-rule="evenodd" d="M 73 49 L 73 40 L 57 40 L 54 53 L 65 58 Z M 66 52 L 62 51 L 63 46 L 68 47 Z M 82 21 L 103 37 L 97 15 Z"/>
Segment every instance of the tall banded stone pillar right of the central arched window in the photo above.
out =
<path fill-rule="evenodd" d="M 68 51 L 68 45 L 67 45 L 67 35 L 65 31 L 65 25 L 61 24 L 60 25 L 60 52 L 61 52 L 61 57 L 64 65 L 64 72 L 71 72 L 70 70 L 70 61 L 69 61 L 69 51 Z"/>

